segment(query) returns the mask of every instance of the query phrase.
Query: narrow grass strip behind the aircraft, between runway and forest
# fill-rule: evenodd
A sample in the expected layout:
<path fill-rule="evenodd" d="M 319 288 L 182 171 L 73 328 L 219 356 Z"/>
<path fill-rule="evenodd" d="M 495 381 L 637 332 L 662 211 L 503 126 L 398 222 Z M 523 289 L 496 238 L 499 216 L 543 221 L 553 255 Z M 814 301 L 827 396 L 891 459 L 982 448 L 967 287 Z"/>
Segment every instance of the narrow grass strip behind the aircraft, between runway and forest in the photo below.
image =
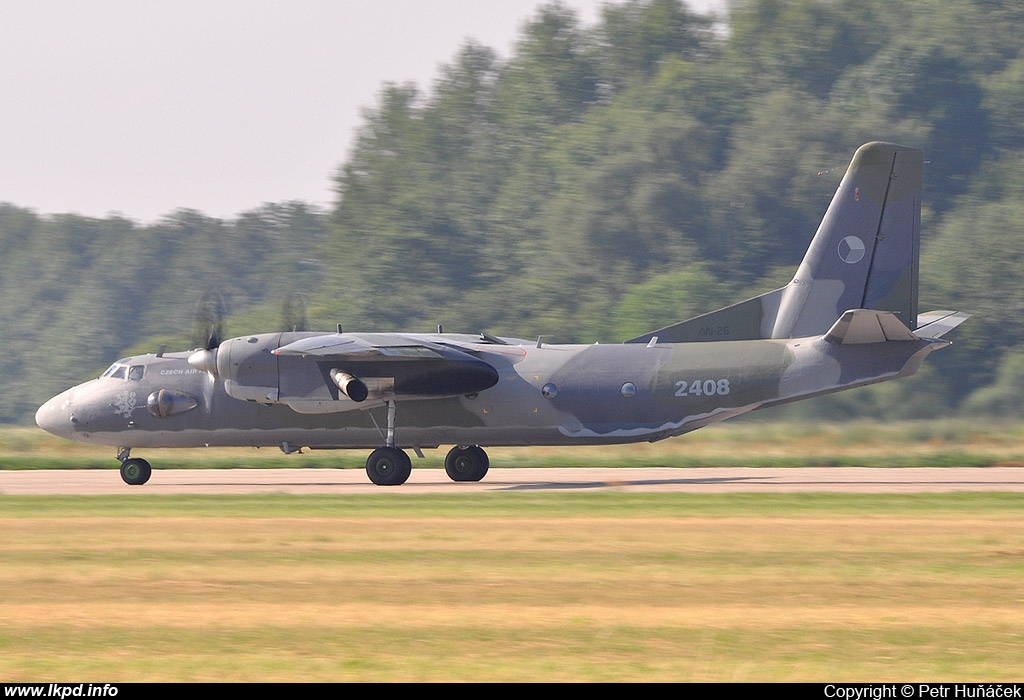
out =
<path fill-rule="evenodd" d="M 0 469 L 116 469 L 114 447 L 60 440 L 38 429 L 0 429 Z M 758 423 L 746 419 L 657 443 L 488 448 L 496 467 L 993 467 L 1024 465 L 1024 423 L 921 421 Z M 157 468 L 362 469 L 369 450 L 283 454 L 275 448 L 136 450 Z M 445 449 L 417 468 L 442 468 Z"/>

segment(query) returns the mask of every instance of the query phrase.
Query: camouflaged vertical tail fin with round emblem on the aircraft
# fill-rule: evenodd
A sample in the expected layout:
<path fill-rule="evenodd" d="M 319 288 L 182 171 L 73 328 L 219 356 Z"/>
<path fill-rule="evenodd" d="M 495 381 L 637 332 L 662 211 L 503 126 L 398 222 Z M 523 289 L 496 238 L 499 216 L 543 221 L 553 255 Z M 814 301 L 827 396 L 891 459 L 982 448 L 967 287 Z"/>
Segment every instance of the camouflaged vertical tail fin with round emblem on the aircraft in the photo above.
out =
<path fill-rule="evenodd" d="M 915 329 L 921 185 L 920 150 L 862 145 L 793 281 L 627 342 L 821 336 L 850 309 L 891 311 Z"/>

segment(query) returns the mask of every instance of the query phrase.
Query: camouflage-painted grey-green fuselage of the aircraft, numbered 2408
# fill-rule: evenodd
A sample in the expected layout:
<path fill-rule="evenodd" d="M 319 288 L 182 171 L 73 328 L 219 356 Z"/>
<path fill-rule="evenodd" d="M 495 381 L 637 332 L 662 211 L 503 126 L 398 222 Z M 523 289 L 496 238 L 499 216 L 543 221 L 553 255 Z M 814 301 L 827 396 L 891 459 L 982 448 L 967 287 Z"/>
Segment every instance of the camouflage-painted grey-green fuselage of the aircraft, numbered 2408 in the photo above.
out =
<path fill-rule="evenodd" d="M 125 371 L 69 389 L 41 407 L 37 421 L 70 439 L 120 447 L 381 444 L 384 401 L 355 403 L 326 383 L 328 365 L 337 361 L 270 352 L 316 335 L 229 341 L 232 363 L 251 370 L 244 378 L 251 383 L 233 389 L 250 389 L 250 399 L 229 396 L 223 381 L 188 363 L 188 353 L 144 355 L 119 361 L 140 367 L 135 379 Z M 416 338 L 453 344 L 494 367 L 497 382 L 466 395 L 398 400 L 395 443 L 404 447 L 659 440 L 763 406 L 908 375 L 929 352 L 948 345 L 806 338 L 538 346 L 472 342 L 471 336 Z M 361 365 L 360 371 L 373 369 Z"/>

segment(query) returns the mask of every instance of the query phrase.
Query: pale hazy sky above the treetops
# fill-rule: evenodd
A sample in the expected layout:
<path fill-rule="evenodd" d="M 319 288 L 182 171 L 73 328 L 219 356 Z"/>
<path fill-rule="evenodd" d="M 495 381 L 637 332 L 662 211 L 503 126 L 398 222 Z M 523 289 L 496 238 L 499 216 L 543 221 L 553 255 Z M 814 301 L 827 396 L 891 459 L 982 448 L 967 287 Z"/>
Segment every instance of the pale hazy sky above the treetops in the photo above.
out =
<path fill-rule="evenodd" d="M 429 89 L 467 38 L 507 57 L 542 4 L 0 0 L 0 202 L 142 222 L 328 205 L 384 82 Z M 566 4 L 590 26 L 605 0 Z"/>

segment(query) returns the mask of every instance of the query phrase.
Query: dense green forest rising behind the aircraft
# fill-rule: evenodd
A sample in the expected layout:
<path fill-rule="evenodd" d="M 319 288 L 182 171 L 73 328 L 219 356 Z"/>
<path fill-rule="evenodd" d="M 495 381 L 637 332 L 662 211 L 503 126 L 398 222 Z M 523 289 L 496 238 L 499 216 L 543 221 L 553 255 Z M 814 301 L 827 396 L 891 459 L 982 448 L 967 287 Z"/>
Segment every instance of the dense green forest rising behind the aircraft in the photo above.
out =
<path fill-rule="evenodd" d="M 922 310 L 974 316 L 914 378 L 810 410 L 1021 414 L 1024 4 L 624 0 L 584 26 L 551 3 L 518 36 L 383 85 L 329 211 L 143 226 L 0 205 L 0 422 L 211 332 L 621 341 L 788 281 L 871 140 L 925 152 Z"/>

